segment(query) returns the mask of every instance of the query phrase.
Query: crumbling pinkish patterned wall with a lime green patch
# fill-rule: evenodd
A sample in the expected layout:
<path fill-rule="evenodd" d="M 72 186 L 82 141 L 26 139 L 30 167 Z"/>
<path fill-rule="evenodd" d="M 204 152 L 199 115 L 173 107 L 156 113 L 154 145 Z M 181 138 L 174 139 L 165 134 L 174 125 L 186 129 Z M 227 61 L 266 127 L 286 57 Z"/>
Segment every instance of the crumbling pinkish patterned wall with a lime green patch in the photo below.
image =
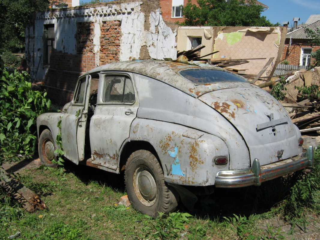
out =
<path fill-rule="evenodd" d="M 232 66 L 234 69 L 246 69 L 246 74 L 257 75 L 269 58 L 274 57 L 272 64 L 262 76 L 268 76 L 276 63 L 279 53 L 281 28 L 268 27 L 216 27 L 213 51 L 219 51 L 214 58 L 231 59 L 266 58 L 248 60 L 249 63 Z"/>

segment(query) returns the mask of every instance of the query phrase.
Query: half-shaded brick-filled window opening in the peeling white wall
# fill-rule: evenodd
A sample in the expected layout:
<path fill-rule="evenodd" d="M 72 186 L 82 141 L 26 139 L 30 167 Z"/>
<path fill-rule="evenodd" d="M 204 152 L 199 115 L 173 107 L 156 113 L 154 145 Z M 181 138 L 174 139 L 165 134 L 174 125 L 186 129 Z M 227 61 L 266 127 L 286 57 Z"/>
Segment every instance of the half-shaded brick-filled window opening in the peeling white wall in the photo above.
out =
<path fill-rule="evenodd" d="M 77 22 L 77 54 L 93 54 L 93 22 Z"/>

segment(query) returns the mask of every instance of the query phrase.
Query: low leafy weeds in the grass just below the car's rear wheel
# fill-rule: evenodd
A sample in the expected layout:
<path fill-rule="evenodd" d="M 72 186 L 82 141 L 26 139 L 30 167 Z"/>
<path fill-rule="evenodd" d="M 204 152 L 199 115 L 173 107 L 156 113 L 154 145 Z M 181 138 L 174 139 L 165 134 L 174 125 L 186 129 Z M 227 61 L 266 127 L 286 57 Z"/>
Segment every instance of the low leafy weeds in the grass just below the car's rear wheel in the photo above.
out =
<path fill-rule="evenodd" d="M 146 216 L 147 221 L 144 222 L 145 227 L 142 232 L 136 231 L 135 227 L 130 227 L 132 232 L 128 236 L 132 239 L 159 239 L 173 240 L 180 238 L 180 234 L 185 231 L 185 224 L 189 222 L 188 217 L 192 217 L 189 213 L 172 212 L 165 215 L 159 212 L 159 216 L 153 219 Z"/>

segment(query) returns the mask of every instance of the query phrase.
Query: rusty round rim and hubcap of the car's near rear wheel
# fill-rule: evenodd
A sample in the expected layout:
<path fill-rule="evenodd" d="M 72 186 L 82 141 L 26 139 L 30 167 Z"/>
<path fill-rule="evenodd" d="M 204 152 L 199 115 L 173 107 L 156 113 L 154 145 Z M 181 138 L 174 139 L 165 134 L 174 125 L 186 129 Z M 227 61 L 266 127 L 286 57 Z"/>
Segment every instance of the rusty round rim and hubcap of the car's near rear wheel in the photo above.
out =
<path fill-rule="evenodd" d="M 133 186 L 140 202 L 146 206 L 152 206 L 156 202 L 157 185 L 149 170 L 140 166 L 133 174 Z"/>

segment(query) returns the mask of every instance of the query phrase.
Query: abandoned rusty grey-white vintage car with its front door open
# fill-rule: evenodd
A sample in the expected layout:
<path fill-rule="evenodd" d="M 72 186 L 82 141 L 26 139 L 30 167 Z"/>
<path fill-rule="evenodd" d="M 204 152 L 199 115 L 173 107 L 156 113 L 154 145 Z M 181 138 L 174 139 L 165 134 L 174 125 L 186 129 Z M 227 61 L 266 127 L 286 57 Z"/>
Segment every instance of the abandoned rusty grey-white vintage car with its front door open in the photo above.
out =
<path fill-rule="evenodd" d="M 124 171 L 133 207 L 150 216 L 173 211 L 192 189 L 259 186 L 313 166 L 312 146 L 303 153 L 299 129 L 275 98 L 211 65 L 134 60 L 80 76 L 62 112 L 37 118 L 47 166 L 60 120 L 64 156 Z"/>

